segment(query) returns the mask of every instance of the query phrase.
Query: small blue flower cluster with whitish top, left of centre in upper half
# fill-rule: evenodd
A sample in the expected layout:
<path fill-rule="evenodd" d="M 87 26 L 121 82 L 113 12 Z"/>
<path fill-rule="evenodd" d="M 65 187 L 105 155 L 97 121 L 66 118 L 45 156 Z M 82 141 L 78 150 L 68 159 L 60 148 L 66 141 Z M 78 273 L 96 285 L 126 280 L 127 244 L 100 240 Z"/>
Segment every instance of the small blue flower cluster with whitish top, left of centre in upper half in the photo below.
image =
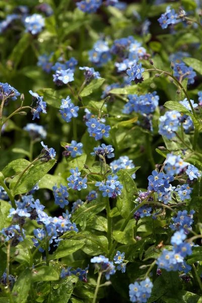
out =
<path fill-rule="evenodd" d="M 67 96 L 66 99 L 62 99 L 62 105 L 60 108 L 61 110 L 59 112 L 62 115 L 63 120 L 66 122 L 70 122 L 72 117 L 78 117 L 79 107 L 74 106 L 69 96 Z"/>

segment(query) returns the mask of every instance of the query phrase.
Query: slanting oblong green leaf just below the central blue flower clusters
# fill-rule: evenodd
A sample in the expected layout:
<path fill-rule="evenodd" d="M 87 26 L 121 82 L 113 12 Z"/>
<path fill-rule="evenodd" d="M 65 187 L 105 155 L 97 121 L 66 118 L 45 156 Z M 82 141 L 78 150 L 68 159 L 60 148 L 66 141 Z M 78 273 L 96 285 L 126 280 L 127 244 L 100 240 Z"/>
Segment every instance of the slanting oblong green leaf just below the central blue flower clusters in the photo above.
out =
<path fill-rule="evenodd" d="M 102 212 L 106 207 L 105 201 L 92 200 L 88 204 L 83 204 L 73 213 L 72 219 L 76 224 L 86 221 L 90 216 Z"/>

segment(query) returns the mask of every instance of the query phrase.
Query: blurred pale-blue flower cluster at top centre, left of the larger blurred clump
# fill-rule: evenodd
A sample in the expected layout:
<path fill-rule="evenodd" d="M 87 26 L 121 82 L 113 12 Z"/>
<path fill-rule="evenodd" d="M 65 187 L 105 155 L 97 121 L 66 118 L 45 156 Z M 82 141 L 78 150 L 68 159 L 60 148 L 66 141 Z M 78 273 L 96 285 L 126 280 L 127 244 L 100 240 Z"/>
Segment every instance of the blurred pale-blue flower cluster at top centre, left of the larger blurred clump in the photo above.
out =
<path fill-rule="evenodd" d="M 93 49 L 88 52 L 88 55 L 89 61 L 94 63 L 96 66 L 102 66 L 112 58 L 109 44 L 104 40 L 98 40 L 95 42 Z"/>

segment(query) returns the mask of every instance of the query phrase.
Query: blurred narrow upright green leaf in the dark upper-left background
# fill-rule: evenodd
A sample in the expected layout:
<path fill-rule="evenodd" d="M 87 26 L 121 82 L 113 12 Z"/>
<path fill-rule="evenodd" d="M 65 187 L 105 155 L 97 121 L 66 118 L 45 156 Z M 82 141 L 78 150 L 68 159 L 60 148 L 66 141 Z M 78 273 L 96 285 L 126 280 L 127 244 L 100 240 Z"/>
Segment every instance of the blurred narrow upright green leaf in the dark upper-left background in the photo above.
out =
<path fill-rule="evenodd" d="M 13 48 L 13 51 L 9 57 L 9 61 L 11 61 L 16 68 L 21 61 L 21 58 L 29 46 L 32 39 L 32 35 L 30 33 L 24 33 L 22 38 L 18 41 L 16 46 Z"/>

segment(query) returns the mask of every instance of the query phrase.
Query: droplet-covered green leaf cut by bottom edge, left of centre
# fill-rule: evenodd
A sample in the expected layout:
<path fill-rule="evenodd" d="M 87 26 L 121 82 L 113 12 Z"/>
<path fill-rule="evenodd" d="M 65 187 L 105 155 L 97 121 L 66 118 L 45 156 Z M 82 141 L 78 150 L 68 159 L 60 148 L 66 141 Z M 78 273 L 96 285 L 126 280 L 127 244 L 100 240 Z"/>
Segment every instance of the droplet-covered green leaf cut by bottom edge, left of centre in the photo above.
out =
<path fill-rule="evenodd" d="M 51 302 L 67 303 L 72 295 L 74 287 L 78 282 L 78 277 L 69 276 L 62 279 L 59 283 L 53 284 Z"/>

